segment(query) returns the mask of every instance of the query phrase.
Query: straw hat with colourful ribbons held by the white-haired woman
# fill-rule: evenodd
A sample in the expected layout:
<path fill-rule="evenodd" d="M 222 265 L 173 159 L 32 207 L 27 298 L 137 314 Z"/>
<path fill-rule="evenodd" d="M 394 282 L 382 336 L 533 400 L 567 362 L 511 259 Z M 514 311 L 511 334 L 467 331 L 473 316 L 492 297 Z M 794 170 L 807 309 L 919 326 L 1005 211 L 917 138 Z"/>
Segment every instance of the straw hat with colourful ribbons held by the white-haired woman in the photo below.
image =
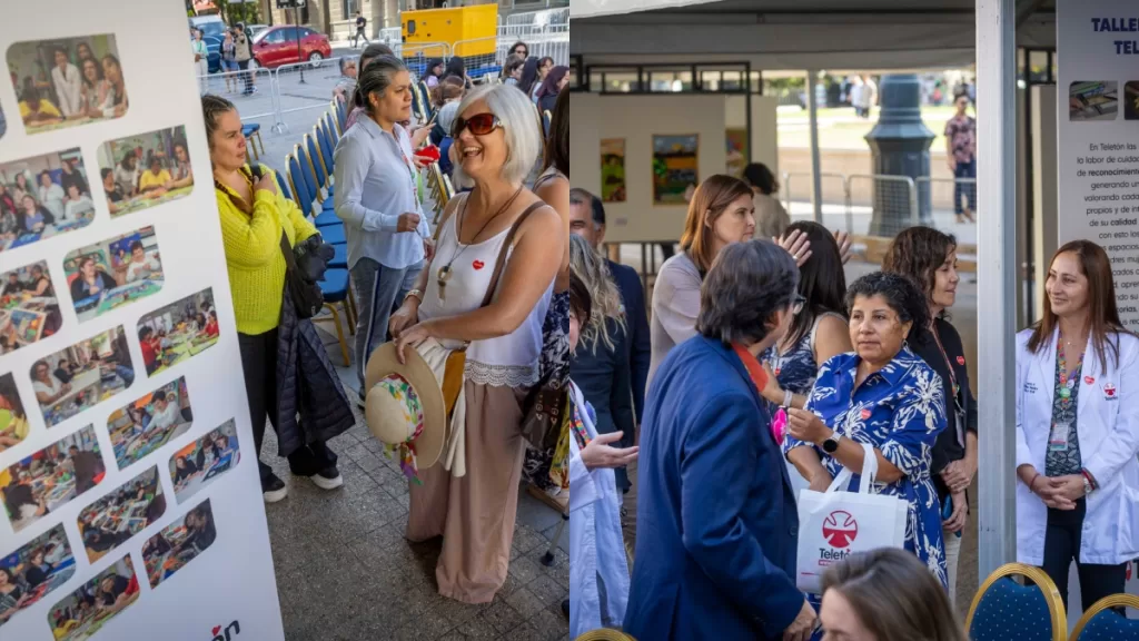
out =
<path fill-rule="evenodd" d="M 431 468 L 443 452 L 446 408 L 443 390 L 431 366 L 415 349 L 405 349 L 407 364 L 395 358 L 387 342 L 368 359 L 364 372 L 364 419 L 380 443 L 400 447 L 401 460 L 413 454 L 413 470 Z"/>

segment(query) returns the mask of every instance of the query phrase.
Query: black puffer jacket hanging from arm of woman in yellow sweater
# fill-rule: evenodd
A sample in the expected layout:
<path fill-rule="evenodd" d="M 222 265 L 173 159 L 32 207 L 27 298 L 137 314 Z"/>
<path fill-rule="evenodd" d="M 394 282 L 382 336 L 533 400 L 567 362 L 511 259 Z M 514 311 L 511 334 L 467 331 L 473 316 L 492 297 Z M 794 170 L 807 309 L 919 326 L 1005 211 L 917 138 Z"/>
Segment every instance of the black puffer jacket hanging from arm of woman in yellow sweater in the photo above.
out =
<path fill-rule="evenodd" d="M 287 286 L 287 285 L 286 285 Z M 312 320 L 297 318 L 284 295 L 277 341 L 278 454 L 328 441 L 355 424 L 339 376 Z"/>

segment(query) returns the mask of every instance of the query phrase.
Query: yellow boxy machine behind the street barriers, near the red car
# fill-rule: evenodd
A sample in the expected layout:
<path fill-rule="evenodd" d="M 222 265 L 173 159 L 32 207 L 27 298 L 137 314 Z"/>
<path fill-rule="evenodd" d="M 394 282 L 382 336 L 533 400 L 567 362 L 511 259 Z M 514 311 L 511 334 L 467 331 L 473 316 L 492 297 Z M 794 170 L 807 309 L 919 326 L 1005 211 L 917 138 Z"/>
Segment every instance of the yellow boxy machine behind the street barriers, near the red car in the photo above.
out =
<path fill-rule="evenodd" d="M 403 55 L 442 58 L 489 56 L 498 47 L 498 3 L 403 11 Z M 443 47 L 448 46 L 448 51 Z M 434 44 L 434 47 L 433 47 Z"/>

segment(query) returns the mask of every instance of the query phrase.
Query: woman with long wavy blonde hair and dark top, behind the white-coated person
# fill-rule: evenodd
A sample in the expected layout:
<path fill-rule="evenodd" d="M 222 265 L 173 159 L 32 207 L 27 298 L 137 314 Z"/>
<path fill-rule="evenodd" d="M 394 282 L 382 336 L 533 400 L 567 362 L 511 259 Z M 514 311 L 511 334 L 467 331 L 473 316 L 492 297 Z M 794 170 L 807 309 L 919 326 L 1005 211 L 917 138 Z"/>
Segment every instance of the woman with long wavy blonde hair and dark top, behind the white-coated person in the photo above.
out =
<path fill-rule="evenodd" d="M 582 323 L 581 340 L 571 354 L 570 379 L 581 389 L 593 407 L 593 424 L 598 433 L 620 435 L 615 447 L 632 447 L 637 422 L 632 396 L 632 344 L 621 293 L 613 275 L 585 238 L 570 236 L 570 270 L 576 274 L 589 290 L 592 314 Z M 614 470 L 616 487 L 624 493 L 630 488 L 625 469 Z"/>

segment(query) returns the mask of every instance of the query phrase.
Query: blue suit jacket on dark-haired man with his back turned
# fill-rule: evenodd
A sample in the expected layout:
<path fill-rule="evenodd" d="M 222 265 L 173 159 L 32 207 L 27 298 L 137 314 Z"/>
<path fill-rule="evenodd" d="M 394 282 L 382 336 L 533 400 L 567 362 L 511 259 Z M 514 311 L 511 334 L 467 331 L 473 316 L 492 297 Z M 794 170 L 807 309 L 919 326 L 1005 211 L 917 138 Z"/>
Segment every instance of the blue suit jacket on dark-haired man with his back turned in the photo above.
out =
<path fill-rule="evenodd" d="M 794 581 L 798 512 L 767 404 L 730 348 L 696 336 L 665 358 L 638 476 L 624 632 L 781 639 L 805 600 Z"/>

